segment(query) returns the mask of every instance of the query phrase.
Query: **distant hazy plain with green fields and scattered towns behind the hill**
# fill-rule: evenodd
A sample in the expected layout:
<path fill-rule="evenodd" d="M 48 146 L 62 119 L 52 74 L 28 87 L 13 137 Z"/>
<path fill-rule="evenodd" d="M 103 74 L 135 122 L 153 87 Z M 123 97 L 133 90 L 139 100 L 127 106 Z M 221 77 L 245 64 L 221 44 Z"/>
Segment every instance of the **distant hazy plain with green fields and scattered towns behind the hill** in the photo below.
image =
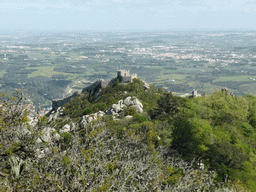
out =
<path fill-rule="evenodd" d="M 176 95 L 256 95 L 256 32 L 0 34 L 0 92 L 22 88 L 45 110 L 117 70 Z"/>

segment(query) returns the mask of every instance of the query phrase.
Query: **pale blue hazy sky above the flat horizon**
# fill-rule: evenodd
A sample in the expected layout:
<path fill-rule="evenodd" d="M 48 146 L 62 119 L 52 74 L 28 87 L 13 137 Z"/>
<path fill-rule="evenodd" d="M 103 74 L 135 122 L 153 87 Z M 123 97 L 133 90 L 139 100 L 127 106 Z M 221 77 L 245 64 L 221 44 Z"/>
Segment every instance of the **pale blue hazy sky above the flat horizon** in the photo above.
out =
<path fill-rule="evenodd" d="M 255 0 L 0 0 L 0 30 L 256 30 Z"/>

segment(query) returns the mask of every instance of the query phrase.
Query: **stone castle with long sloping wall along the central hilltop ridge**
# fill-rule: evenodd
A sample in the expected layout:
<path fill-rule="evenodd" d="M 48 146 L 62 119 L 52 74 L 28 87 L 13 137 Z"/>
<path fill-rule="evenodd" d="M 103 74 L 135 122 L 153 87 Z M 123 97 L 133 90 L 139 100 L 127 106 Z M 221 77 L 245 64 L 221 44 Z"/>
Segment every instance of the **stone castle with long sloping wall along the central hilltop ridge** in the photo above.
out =
<path fill-rule="evenodd" d="M 83 88 L 82 90 L 74 92 L 72 95 L 68 97 L 64 97 L 62 99 L 53 99 L 52 100 L 52 111 L 56 111 L 59 107 L 63 106 L 67 102 L 69 102 L 72 98 L 78 96 L 81 93 L 88 92 L 91 95 L 97 95 L 101 88 L 106 88 L 113 83 L 115 83 L 117 80 L 119 80 L 119 83 L 131 83 L 134 78 L 137 78 L 137 74 L 130 75 L 129 70 L 118 70 L 117 71 L 117 77 L 110 79 L 110 80 L 97 80 L 91 85 Z"/>

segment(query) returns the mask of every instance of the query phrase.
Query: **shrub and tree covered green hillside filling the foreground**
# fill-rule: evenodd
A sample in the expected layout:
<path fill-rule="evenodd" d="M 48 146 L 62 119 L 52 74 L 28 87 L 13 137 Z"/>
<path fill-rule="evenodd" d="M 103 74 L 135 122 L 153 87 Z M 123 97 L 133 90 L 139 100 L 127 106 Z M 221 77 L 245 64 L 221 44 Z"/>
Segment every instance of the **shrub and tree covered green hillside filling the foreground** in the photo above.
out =
<path fill-rule="evenodd" d="M 128 107 L 118 121 L 76 124 L 127 96 L 142 102 L 142 114 Z M 2 96 L 0 191 L 256 191 L 253 96 L 181 98 L 137 79 L 102 89 L 98 99 L 83 93 L 62 118 L 33 127 L 26 112 L 13 112 L 19 99 Z M 66 124 L 72 129 L 63 132 Z M 45 127 L 54 128 L 52 139 L 38 142 Z"/>

